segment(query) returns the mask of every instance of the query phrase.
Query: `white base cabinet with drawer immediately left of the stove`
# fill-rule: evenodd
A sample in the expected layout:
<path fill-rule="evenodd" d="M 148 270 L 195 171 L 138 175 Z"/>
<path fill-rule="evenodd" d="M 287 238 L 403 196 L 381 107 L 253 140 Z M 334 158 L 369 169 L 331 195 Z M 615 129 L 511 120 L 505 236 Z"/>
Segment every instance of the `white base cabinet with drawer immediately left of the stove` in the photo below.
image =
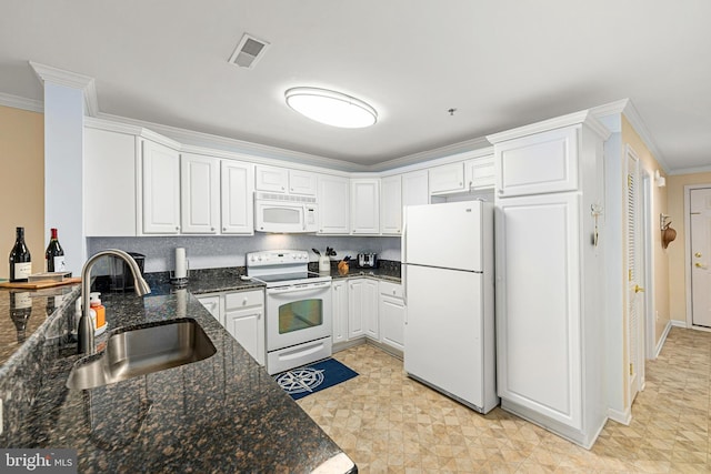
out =
<path fill-rule="evenodd" d="M 224 327 L 260 365 L 264 365 L 264 293 L 224 295 Z"/>

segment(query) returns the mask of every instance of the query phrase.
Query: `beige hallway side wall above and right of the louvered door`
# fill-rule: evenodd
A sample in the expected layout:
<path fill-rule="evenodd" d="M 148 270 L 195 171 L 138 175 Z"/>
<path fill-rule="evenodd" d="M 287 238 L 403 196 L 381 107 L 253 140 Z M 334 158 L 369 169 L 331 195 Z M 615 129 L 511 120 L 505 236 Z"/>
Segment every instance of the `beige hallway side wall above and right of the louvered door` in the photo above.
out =
<path fill-rule="evenodd" d="M 652 177 L 654 171 L 659 170 L 662 177 L 665 177 L 664 171 L 657 162 L 657 159 L 649 151 L 640 135 L 632 128 L 630 122 L 624 115 L 622 115 L 622 153 L 625 153 L 627 145 L 630 145 L 637 157 L 640 160 L 640 168 L 645 172 L 650 172 Z M 623 154 L 623 159 L 624 154 Z M 652 182 L 652 210 L 651 210 L 651 226 L 652 226 L 652 266 L 654 274 L 654 306 L 658 313 L 657 323 L 654 327 L 655 344 L 659 343 L 664 329 L 670 321 L 670 297 L 669 297 L 669 249 L 663 250 L 661 244 L 661 230 L 659 228 L 659 214 L 668 212 L 667 193 L 668 188 L 658 188 L 655 182 Z M 677 222 L 673 223 L 674 225 Z M 623 225 L 622 229 L 625 229 Z M 675 228 L 674 228 L 675 229 Z M 679 240 L 679 239 L 677 239 Z M 677 243 L 677 242 L 674 242 Z M 672 243 L 672 245 L 674 245 Z M 627 280 L 627 279 L 625 279 Z M 640 282 L 640 285 L 643 285 Z"/>

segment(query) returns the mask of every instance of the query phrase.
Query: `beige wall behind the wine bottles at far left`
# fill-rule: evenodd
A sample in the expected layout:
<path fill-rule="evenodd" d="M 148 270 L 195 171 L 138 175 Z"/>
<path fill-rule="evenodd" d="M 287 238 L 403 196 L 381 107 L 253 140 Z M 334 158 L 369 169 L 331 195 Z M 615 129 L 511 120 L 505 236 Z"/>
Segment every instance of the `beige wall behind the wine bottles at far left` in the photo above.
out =
<path fill-rule="evenodd" d="M 0 279 L 8 279 L 14 228 L 23 226 L 32 272 L 44 271 L 44 117 L 0 105 Z"/>

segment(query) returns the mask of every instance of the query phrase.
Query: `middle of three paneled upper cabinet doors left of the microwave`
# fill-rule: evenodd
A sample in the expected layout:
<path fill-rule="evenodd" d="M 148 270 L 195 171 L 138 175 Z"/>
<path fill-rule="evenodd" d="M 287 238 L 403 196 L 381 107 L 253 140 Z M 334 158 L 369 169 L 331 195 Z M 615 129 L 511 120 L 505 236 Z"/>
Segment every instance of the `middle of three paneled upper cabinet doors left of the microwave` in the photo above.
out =
<path fill-rule="evenodd" d="M 220 160 L 180 157 L 180 223 L 183 234 L 217 234 L 220 223 Z"/>

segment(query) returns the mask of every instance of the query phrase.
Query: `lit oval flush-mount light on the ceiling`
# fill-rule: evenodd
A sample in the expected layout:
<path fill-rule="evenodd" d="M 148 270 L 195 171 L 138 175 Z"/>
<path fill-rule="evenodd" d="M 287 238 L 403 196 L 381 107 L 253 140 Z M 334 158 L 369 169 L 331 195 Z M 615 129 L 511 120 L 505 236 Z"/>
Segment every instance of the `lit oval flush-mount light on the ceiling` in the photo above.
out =
<path fill-rule="evenodd" d="M 328 89 L 293 88 L 284 98 L 297 112 L 327 125 L 360 129 L 378 121 L 375 109 L 362 100 Z"/>

